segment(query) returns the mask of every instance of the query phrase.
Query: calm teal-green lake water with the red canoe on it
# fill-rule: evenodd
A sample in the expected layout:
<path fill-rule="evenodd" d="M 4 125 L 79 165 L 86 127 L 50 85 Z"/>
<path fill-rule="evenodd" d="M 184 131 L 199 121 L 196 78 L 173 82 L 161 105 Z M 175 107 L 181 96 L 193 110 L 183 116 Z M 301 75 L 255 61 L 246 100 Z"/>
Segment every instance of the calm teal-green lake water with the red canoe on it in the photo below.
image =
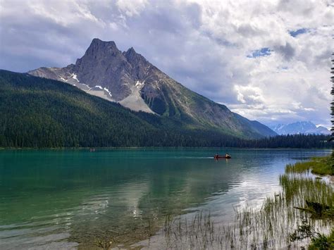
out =
<path fill-rule="evenodd" d="M 214 160 L 217 152 L 230 160 Z M 167 215 L 260 206 L 287 163 L 330 150 L 97 149 L 0 151 L 0 249 L 130 246 Z"/>

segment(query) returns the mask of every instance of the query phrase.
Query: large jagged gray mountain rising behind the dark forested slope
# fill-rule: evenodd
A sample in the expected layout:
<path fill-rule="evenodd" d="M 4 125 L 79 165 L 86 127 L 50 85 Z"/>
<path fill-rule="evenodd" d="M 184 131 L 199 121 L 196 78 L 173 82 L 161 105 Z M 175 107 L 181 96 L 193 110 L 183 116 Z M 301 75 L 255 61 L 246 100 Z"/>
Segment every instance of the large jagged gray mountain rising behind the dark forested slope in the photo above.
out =
<path fill-rule="evenodd" d="M 66 82 L 132 111 L 178 122 L 188 130 L 211 130 L 240 138 L 277 135 L 269 127 L 233 113 L 192 92 L 135 49 L 119 51 L 115 42 L 93 39 L 82 58 L 64 68 L 38 68 L 30 75 Z"/>

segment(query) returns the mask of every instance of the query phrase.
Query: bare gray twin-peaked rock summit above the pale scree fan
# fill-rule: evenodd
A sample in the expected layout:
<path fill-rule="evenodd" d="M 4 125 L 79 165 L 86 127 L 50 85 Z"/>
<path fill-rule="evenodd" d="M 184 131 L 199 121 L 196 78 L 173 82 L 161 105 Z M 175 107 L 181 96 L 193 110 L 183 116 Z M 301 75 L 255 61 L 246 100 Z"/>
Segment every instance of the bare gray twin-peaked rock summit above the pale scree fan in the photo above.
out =
<path fill-rule="evenodd" d="M 121 101 L 132 94 L 132 86 L 147 75 L 148 65 L 150 63 L 134 49 L 122 53 L 115 42 L 103 42 L 95 38 L 75 65 L 70 64 L 65 68 L 38 68 L 28 73 L 73 85 L 80 82 L 90 89 L 95 88 L 95 91 L 106 88 L 111 92 L 113 101 Z"/>

